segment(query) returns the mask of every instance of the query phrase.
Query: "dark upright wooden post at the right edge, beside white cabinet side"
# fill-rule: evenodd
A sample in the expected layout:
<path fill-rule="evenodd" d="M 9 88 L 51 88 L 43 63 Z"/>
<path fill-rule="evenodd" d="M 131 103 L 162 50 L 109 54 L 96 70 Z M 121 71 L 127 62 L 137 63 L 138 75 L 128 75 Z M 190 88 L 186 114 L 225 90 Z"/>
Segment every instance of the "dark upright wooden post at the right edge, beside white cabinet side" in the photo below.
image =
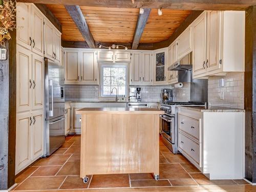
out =
<path fill-rule="evenodd" d="M 256 6 L 245 15 L 245 178 L 256 183 Z"/>

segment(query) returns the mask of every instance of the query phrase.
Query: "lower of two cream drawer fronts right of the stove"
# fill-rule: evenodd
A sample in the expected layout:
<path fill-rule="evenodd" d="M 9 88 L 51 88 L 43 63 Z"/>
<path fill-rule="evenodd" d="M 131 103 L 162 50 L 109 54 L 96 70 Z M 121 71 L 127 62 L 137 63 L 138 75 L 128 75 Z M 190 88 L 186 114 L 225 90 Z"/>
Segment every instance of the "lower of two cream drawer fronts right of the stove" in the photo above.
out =
<path fill-rule="evenodd" d="M 189 155 L 198 164 L 200 164 L 199 143 L 196 143 L 195 141 L 189 139 L 181 132 L 179 132 L 179 148 L 181 148 L 187 155 Z"/>

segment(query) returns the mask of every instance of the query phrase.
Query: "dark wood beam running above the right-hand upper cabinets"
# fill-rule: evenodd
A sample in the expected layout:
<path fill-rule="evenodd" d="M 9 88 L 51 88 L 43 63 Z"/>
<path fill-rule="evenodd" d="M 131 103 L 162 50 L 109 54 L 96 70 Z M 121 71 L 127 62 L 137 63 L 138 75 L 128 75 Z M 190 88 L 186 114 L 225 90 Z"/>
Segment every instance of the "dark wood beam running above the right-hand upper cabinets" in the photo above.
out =
<path fill-rule="evenodd" d="M 167 39 L 154 44 L 154 49 L 160 49 L 168 47 L 172 42 L 180 36 L 180 34 L 191 24 L 203 11 L 193 11 L 184 22 L 175 30 L 175 32 Z"/>

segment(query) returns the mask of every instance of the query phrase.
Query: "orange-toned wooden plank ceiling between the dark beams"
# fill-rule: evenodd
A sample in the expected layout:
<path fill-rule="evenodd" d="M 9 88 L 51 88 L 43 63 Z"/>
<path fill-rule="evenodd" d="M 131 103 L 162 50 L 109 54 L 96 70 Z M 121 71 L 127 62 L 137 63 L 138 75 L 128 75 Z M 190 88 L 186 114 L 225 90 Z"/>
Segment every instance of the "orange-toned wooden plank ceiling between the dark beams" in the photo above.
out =
<path fill-rule="evenodd" d="M 73 19 L 63 5 L 47 7 L 62 24 L 62 40 L 84 41 Z M 104 8 L 80 6 L 86 22 L 97 42 L 132 42 L 139 16 L 137 8 Z M 168 39 L 191 13 L 187 10 L 152 9 L 140 42 L 159 42 Z"/>

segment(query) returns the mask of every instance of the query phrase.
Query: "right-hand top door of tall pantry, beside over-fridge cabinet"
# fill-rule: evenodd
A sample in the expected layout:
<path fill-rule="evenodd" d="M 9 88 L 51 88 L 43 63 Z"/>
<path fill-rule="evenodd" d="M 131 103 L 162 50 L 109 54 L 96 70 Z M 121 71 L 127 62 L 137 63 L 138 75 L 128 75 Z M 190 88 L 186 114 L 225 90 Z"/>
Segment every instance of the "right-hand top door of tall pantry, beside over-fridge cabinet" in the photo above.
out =
<path fill-rule="evenodd" d="M 31 6 L 32 52 L 44 56 L 44 16 Z"/>

